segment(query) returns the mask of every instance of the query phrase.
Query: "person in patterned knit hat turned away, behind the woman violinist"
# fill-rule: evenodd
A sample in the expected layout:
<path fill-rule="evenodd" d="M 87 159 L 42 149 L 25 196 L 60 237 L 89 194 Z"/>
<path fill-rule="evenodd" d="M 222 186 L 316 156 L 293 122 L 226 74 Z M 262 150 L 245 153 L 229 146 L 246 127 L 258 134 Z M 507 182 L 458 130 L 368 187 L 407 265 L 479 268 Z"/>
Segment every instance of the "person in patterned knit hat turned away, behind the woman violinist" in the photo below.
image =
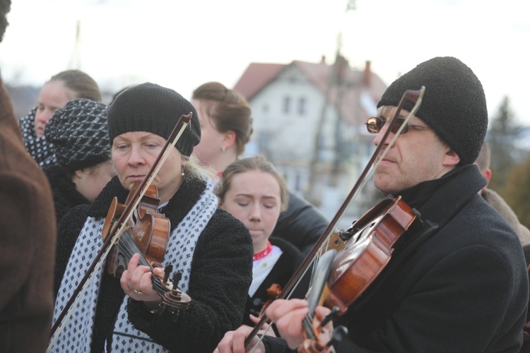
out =
<path fill-rule="evenodd" d="M 110 161 L 107 104 L 71 100 L 45 126 L 57 164 L 44 167 L 52 186 L 57 223 L 76 205 L 93 203 L 114 177 Z"/>

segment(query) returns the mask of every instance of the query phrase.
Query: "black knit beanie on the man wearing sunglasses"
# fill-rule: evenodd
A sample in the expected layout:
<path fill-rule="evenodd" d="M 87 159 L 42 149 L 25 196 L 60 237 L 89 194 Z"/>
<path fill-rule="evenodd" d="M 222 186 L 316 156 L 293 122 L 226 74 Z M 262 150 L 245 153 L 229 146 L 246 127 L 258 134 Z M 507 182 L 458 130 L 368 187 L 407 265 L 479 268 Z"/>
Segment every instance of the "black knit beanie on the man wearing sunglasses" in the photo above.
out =
<path fill-rule="evenodd" d="M 418 118 L 425 121 L 460 157 L 472 164 L 488 129 L 488 108 L 481 81 L 459 59 L 445 56 L 425 61 L 395 80 L 377 107 L 397 106 L 406 90 L 425 86 Z M 404 109 L 410 111 L 412 102 Z"/>

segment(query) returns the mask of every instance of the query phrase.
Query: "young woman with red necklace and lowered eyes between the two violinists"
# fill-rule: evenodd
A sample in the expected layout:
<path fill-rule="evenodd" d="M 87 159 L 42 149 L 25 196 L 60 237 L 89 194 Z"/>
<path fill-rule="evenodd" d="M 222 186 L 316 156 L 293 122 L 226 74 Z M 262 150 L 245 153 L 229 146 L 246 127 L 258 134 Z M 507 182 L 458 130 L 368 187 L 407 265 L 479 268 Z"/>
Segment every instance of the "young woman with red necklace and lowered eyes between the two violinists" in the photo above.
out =
<path fill-rule="evenodd" d="M 220 208 L 243 222 L 252 235 L 252 285 L 243 319 L 244 324 L 252 325 L 250 314 L 259 316 L 264 304 L 275 294 L 271 296 L 268 289 L 278 285 L 281 290 L 304 259 L 293 244 L 271 238 L 280 213 L 287 208 L 287 186 L 273 164 L 258 155 L 229 164 L 216 186 L 216 194 Z M 304 298 L 308 284 L 306 275 L 291 297 Z"/>

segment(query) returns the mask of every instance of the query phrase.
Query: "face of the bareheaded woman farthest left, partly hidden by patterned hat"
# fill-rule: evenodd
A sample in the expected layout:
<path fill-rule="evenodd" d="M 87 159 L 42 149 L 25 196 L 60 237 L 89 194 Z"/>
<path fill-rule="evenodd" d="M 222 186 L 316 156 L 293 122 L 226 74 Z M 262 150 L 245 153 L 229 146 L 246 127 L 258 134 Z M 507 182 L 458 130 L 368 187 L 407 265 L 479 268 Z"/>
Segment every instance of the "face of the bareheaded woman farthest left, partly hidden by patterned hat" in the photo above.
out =
<path fill-rule="evenodd" d="M 35 113 L 35 136 L 44 136 L 44 128 L 54 112 L 73 100 L 73 92 L 66 88 L 63 80 L 53 80 L 46 83 L 40 90 Z"/>

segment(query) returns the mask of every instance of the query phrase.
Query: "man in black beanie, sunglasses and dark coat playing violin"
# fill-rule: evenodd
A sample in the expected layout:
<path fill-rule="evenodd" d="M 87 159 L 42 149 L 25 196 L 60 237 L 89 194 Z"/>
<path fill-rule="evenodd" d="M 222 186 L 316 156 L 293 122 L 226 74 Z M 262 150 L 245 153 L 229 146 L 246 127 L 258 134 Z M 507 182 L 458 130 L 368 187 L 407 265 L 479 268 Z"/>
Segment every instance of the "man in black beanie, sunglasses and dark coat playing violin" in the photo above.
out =
<path fill-rule="evenodd" d="M 387 266 L 329 330 L 348 329 L 332 342 L 337 352 L 518 352 L 529 283 L 514 230 L 483 201 L 476 165 L 488 127 L 482 85 L 458 59 L 437 57 L 398 78 L 367 121 L 386 148 L 413 107 L 396 115 L 406 90 L 425 86 L 418 111 L 375 169 L 374 185 L 418 211 L 396 241 Z M 317 307 L 315 321 L 330 309 Z M 256 352 L 299 349 L 307 301 L 273 301 L 266 315 L 281 338 L 265 336 Z M 313 314 L 313 313 L 311 313 Z M 229 332 L 220 352 L 245 352 L 250 328 Z M 246 347 L 257 345 L 258 337 Z M 327 342 L 319 342 L 326 345 Z"/>

